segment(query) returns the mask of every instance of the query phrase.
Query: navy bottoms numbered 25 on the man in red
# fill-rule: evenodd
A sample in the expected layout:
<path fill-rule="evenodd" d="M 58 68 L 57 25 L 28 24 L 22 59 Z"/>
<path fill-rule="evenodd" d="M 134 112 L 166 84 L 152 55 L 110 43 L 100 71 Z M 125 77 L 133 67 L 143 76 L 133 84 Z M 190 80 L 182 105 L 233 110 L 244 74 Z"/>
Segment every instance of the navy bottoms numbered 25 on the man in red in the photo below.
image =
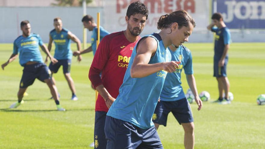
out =
<path fill-rule="evenodd" d="M 96 111 L 94 127 L 94 144 L 95 149 L 106 149 L 107 140 L 105 137 L 104 127 L 107 112 Z"/>

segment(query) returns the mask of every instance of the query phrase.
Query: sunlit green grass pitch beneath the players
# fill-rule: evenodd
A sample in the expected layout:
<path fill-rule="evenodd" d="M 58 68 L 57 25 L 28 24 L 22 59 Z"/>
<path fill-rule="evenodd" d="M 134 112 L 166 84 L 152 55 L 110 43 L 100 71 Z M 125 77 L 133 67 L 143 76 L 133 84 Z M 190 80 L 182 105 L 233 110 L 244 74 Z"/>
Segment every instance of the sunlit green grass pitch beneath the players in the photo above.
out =
<path fill-rule="evenodd" d="M 217 99 L 217 81 L 212 76 L 214 45 L 185 45 L 192 51 L 198 92 L 205 90 L 211 95 L 210 101 Z M 0 44 L 1 64 L 10 57 L 12 46 Z M 204 102 L 201 111 L 196 110 L 196 104 L 191 104 L 195 120 L 195 148 L 265 148 L 265 105 L 256 103 L 257 96 L 265 94 L 264 47 L 264 43 L 231 44 L 227 72 L 234 101 L 230 105 Z M 75 44 L 72 44 L 72 49 L 76 50 Z M 27 89 L 29 95 L 23 98 L 23 105 L 8 109 L 17 101 L 23 67 L 17 58 L 4 71 L 0 70 L 0 148 L 89 148 L 93 142 L 95 116 L 95 92 L 87 77 L 91 62 L 92 53 L 84 54 L 80 63 L 73 57 L 71 76 L 78 101 L 70 100 L 71 92 L 62 68 L 54 75 L 61 105 L 67 109 L 65 112 L 56 110 L 54 101 L 48 100 L 51 94 L 47 85 L 39 80 Z M 184 73 L 182 85 L 186 92 L 188 85 Z M 184 131 L 172 114 L 167 127 L 160 126 L 158 134 L 165 149 L 184 148 Z"/>

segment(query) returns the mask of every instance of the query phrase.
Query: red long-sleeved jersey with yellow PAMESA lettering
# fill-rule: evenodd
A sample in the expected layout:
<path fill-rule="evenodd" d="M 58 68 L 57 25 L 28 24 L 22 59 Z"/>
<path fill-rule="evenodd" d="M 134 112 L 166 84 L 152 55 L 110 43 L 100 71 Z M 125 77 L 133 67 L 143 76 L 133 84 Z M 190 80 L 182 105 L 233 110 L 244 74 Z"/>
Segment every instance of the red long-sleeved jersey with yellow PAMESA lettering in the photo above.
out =
<path fill-rule="evenodd" d="M 139 39 L 138 36 L 136 42 L 129 42 L 121 31 L 109 34 L 101 40 L 89 70 L 89 79 L 95 88 L 103 84 L 110 95 L 117 98 L 133 48 Z M 108 107 L 99 94 L 95 111 L 108 112 Z"/>

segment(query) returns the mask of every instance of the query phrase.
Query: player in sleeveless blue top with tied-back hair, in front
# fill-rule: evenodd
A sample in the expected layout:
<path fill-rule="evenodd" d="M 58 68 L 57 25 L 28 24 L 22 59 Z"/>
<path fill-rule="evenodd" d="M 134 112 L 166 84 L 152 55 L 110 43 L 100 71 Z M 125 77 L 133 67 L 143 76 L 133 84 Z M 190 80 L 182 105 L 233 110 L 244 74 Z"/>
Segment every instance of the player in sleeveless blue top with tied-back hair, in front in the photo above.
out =
<path fill-rule="evenodd" d="M 167 47 L 188 41 L 194 26 L 186 11 L 171 12 L 160 17 L 161 32 L 143 37 L 134 47 L 120 94 L 106 116 L 107 148 L 163 148 L 152 116 L 167 72 L 180 63 L 170 61 Z"/>

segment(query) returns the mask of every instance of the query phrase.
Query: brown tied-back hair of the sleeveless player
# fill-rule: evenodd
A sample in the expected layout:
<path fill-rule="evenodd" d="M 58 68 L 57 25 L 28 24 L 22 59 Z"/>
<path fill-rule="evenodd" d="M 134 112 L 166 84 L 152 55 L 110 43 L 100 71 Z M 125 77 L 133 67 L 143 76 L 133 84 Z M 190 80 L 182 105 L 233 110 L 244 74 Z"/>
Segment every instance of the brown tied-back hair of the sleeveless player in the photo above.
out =
<path fill-rule="evenodd" d="M 172 23 L 178 23 L 178 28 L 182 26 L 189 26 L 189 23 L 196 26 L 194 19 L 185 10 L 178 10 L 170 14 L 162 15 L 157 22 L 157 29 L 169 28 Z"/>

